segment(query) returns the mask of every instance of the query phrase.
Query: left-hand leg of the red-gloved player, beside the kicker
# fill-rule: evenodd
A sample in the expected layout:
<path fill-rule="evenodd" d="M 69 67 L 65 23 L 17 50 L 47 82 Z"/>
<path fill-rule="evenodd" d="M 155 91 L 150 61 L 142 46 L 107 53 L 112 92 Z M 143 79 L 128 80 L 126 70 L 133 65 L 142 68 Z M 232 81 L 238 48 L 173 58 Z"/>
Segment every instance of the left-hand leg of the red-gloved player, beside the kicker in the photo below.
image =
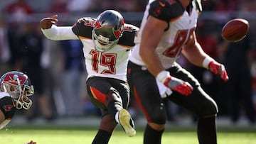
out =
<path fill-rule="evenodd" d="M 147 119 L 144 144 L 160 144 L 166 123 L 166 108 L 159 95 L 156 79 L 146 69 L 132 62 L 128 64 L 127 79 Z"/>

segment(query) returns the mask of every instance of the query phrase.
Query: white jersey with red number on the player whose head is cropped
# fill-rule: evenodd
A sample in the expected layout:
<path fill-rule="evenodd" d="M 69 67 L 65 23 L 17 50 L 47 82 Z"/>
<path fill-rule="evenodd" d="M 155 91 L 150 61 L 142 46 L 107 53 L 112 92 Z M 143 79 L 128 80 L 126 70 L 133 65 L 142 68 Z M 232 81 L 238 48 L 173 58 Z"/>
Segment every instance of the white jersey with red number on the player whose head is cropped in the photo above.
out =
<path fill-rule="evenodd" d="M 185 45 L 187 42 L 188 36 L 191 35 L 191 33 L 193 33 L 194 29 L 196 28 L 198 13 L 200 12 L 198 1 L 192 2 L 192 10 L 190 14 L 188 11 L 183 9 L 178 1 L 170 0 L 168 2 L 166 1 L 166 4 L 164 4 L 161 3 L 161 1 L 151 0 L 146 6 L 146 11 L 144 12 L 144 18 L 142 19 L 140 31 L 134 38 L 134 43 L 136 45 L 134 46 L 134 50 L 129 57 L 129 60 L 136 63 L 137 65 L 145 65 L 142 57 L 139 55 L 139 44 L 141 42 L 142 31 L 144 29 L 147 18 L 149 15 L 154 16 L 154 13 L 156 13 L 155 11 L 161 12 L 159 16 L 154 17 L 169 23 L 168 29 L 164 32 L 164 35 L 162 36 L 159 45 L 156 48 L 156 52 L 159 55 L 161 63 L 166 69 L 174 64 L 182 50 L 183 45 Z"/>

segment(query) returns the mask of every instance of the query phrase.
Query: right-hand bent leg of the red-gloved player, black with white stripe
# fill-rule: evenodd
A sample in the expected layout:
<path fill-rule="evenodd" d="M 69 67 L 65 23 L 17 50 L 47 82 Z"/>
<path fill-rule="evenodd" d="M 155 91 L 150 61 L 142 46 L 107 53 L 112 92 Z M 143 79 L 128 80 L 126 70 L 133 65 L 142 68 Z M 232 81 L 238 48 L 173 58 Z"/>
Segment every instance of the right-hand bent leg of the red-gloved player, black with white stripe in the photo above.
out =
<path fill-rule="evenodd" d="M 215 101 L 203 91 L 193 75 L 179 65 L 172 67 L 170 72 L 174 77 L 189 82 L 193 86 L 193 92 L 188 96 L 182 96 L 174 92 L 171 96 L 168 96 L 168 99 L 196 114 L 198 117 L 197 129 L 200 144 L 216 144 L 215 116 L 218 113 L 218 107 Z"/>

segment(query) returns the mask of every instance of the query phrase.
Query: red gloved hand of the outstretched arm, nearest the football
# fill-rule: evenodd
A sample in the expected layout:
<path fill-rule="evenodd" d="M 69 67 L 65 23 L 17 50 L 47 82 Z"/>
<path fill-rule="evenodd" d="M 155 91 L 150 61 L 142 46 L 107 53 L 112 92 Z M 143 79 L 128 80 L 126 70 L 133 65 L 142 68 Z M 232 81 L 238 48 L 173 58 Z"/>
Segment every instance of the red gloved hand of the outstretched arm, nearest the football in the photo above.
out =
<path fill-rule="evenodd" d="M 209 63 L 208 68 L 214 74 L 220 74 L 220 78 L 223 79 L 225 82 L 228 81 L 228 73 L 225 70 L 224 65 L 222 65 L 218 62 L 212 61 Z"/>

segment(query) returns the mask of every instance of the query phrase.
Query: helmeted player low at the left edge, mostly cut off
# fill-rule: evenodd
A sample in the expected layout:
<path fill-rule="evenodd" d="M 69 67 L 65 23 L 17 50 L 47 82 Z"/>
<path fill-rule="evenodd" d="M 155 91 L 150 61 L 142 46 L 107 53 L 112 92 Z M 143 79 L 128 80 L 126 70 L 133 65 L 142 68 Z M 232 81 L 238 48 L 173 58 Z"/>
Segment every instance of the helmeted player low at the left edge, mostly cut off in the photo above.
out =
<path fill-rule="evenodd" d="M 14 117 L 16 109 L 29 109 L 28 96 L 34 94 L 33 85 L 26 74 L 18 71 L 6 72 L 0 79 L 0 129 Z"/>

